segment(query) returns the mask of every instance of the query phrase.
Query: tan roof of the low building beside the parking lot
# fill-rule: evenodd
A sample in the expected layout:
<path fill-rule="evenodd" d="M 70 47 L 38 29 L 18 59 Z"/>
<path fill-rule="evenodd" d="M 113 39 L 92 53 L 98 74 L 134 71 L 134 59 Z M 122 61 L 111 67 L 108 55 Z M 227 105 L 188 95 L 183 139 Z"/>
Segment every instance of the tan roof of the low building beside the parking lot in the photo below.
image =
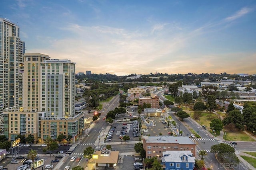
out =
<path fill-rule="evenodd" d="M 98 155 L 98 159 L 90 159 L 90 163 L 117 164 L 119 151 L 111 151 L 110 156 L 101 156 L 102 151 L 97 150 L 94 154 Z"/>

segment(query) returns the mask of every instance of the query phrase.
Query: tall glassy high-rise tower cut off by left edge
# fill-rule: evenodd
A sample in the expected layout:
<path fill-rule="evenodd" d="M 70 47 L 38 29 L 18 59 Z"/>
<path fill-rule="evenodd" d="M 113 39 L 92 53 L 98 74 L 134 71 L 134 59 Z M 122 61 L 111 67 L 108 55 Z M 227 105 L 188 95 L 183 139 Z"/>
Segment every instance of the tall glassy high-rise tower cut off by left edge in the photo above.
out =
<path fill-rule="evenodd" d="M 18 64 L 24 53 L 18 25 L 0 18 L 0 113 L 18 105 Z"/>

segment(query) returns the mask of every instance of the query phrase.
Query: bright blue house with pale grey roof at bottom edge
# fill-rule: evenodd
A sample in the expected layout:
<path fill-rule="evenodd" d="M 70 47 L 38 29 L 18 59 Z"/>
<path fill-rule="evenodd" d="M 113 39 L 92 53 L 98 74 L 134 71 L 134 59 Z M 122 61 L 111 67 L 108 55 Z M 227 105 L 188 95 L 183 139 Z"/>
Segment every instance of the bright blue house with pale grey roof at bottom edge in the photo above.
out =
<path fill-rule="evenodd" d="M 162 152 L 162 169 L 164 170 L 193 170 L 195 157 L 190 150 L 166 150 Z"/>

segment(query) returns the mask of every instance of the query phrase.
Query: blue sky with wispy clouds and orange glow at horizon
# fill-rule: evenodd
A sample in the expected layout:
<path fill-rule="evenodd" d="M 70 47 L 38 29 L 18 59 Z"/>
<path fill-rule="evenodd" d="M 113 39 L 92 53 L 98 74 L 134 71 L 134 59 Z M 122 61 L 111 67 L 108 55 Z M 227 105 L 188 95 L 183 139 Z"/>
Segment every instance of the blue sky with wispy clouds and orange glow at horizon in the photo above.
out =
<path fill-rule="evenodd" d="M 256 74 L 255 0 L 1 0 L 0 17 L 76 73 Z"/>

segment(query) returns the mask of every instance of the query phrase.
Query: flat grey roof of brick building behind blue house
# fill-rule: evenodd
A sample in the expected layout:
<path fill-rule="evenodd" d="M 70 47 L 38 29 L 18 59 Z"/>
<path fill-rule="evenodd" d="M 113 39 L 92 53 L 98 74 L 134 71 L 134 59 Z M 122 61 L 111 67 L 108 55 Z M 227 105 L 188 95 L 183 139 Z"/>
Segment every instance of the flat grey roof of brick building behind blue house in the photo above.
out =
<path fill-rule="evenodd" d="M 189 137 L 174 137 L 174 136 L 146 136 L 146 143 L 178 143 L 186 145 L 196 145 Z"/>

